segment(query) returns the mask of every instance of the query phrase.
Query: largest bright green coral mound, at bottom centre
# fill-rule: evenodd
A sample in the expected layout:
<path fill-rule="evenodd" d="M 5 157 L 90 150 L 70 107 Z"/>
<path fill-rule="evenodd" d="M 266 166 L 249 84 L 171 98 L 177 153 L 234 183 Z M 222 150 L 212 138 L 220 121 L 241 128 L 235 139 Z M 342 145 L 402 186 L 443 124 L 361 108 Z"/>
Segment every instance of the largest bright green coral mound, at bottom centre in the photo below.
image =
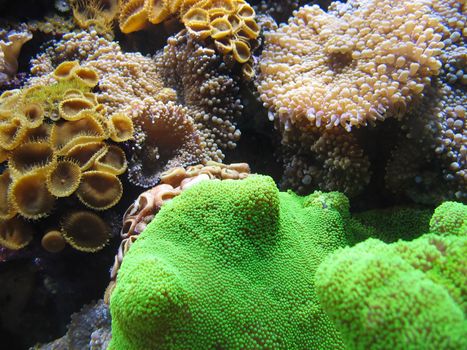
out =
<path fill-rule="evenodd" d="M 125 255 L 110 349 L 343 348 L 313 275 L 345 245 L 344 219 L 310 199 L 250 176 L 164 205 Z"/>

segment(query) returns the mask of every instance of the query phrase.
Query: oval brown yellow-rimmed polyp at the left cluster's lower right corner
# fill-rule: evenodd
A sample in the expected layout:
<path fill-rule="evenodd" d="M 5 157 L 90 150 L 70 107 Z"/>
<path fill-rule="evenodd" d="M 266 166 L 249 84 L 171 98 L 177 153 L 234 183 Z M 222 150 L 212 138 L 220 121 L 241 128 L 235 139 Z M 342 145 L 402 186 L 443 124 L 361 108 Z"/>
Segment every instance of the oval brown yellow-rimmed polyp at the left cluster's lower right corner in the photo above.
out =
<path fill-rule="evenodd" d="M 117 176 L 97 170 L 85 172 L 76 191 L 78 199 L 95 210 L 113 207 L 122 197 L 122 193 L 122 183 Z"/>

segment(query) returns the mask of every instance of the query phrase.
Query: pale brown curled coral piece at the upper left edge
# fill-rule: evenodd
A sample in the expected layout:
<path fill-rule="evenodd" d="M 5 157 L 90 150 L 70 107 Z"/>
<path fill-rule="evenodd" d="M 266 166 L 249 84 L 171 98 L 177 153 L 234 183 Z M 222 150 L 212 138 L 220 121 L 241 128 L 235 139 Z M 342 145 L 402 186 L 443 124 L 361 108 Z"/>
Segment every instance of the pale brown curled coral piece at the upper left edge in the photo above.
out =
<path fill-rule="evenodd" d="M 6 41 L 0 40 L 0 86 L 16 75 L 21 48 L 31 39 L 32 34 L 23 29 L 8 33 Z"/>

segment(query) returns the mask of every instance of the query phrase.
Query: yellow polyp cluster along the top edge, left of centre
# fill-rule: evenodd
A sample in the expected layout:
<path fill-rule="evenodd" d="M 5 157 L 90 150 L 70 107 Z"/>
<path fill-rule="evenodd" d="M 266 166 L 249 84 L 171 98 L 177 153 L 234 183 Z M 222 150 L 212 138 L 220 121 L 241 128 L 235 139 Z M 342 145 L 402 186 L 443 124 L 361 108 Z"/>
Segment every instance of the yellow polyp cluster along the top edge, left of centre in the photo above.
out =
<path fill-rule="evenodd" d="M 255 11 L 244 0 L 127 0 L 122 1 L 120 29 L 124 33 L 179 16 L 196 39 L 209 37 L 223 55 L 246 64 L 259 35 Z M 251 74 L 251 66 L 244 68 Z"/>

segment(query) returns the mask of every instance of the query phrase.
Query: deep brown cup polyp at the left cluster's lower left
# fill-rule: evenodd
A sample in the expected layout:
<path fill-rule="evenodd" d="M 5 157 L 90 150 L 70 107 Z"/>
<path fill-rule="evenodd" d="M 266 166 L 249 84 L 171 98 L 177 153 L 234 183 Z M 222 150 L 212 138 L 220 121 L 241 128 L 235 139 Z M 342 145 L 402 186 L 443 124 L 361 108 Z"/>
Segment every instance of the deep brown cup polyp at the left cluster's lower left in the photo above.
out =
<path fill-rule="evenodd" d="M 55 202 L 47 190 L 46 174 L 42 169 L 15 179 L 10 195 L 18 213 L 27 219 L 39 219 L 48 215 Z"/>

